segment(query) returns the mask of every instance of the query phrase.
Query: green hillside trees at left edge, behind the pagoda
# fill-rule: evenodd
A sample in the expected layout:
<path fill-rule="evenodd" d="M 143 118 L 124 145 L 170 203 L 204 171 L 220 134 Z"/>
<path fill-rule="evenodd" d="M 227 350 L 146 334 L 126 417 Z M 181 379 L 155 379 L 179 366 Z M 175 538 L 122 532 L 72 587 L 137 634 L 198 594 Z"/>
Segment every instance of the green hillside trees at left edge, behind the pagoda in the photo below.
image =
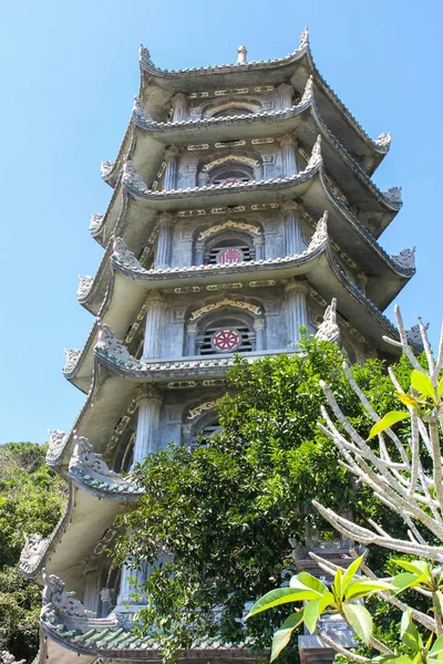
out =
<path fill-rule="evenodd" d="M 44 463 L 45 447 L 0 446 L 0 651 L 31 661 L 39 643 L 41 588 L 19 570 L 24 532 L 47 537 L 65 502 L 65 483 Z"/>

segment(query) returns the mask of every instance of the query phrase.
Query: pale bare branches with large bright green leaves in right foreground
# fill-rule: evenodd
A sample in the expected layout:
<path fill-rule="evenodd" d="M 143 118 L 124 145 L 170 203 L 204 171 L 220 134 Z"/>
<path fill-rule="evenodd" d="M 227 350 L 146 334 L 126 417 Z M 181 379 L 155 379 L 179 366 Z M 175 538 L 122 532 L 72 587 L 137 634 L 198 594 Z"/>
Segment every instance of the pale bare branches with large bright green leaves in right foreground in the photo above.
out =
<path fill-rule="evenodd" d="M 344 374 L 361 405 L 372 419 L 369 437 L 363 437 L 350 423 L 338 404 L 330 386 L 321 382 L 333 418 L 324 406 L 321 414 L 324 421 L 320 430 L 337 446 L 341 459 L 339 464 L 351 473 L 358 485 L 370 489 L 372 495 L 404 522 L 409 539 L 391 536 L 382 526 L 368 519 L 369 526 L 356 523 L 334 510 L 313 500 L 320 515 L 347 538 L 362 544 L 378 544 L 395 552 L 421 559 L 399 560 L 394 563 L 402 572 L 392 579 L 378 579 L 363 562 L 363 557 L 354 560 L 348 570 L 311 554 L 328 574 L 333 575 L 329 587 L 307 573 L 291 580 L 289 589 L 280 588 L 267 593 L 253 606 L 249 615 L 287 602 L 306 602 L 292 613 L 276 632 L 272 642 L 272 660 L 289 642 L 296 626 L 302 622 L 311 633 L 317 632 L 323 642 L 356 662 L 392 662 L 395 664 L 436 664 L 443 662 L 443 329 L 439 355 L 434 359 L 426 330 L 420 323 L 427 369 L 424 369 L 408 345 L 406 333 L 399 309 L 395 309 L 400 342 L 385 339 L 400 346 L 413 370 L 410 376 L 410 393 L 406 393 L 392 369 L 389 375 L 394 386 L 394 396 L 405 411 L 390 411 L 380 417 L 357 384 L 349 366 L 344 363 Z M 336 424 L 336 422 L 337 424 Z M 399 437 L 394 425 L 408 421 L 409 436 Z M 378 448 L 371 439 L 378 438 Z M 434 562 L 440 563 L 433 568 Z M 357 575 L 361 570 L 365 577 Z M 429 604 L 421 611 L 418 603 L 400 600 L 398 594 L 405 590 L 419 593 Z M 387 602 L 403 612 L 399 625 L 400 642 L 394 650 L 374 637 L 373 620 L 362 604 L 377 593 Z M 408 596 L 411 596 L 410 594 Z M 416 595 L 413 595 L 416 596 Z M 344 650 L 330 634 L 323 634 L 318 621 L 323 613 L 338 613 L 365 644 L 368 656 Z M 419 625 L 420 629 L 416 626 Z M 426 634 L 423 635 L 423 629 Z M 377 651 L 378 654 L 374 654 Z"/>

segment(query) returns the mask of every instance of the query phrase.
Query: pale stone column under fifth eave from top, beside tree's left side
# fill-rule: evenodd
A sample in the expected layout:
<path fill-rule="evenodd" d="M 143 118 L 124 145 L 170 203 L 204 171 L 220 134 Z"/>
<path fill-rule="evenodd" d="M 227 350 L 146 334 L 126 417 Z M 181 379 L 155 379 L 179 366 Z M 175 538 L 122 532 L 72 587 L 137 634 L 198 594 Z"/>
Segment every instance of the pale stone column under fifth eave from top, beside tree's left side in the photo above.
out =
<path fill-rule="evenodd" d="M 137 403 L 137 428 L 135 433 L 134 460 L 132 467 L 138 463 L 143 463 L 150 454 L 157 449 L 162 393 L 153 385 L 140 387 Z"/>

